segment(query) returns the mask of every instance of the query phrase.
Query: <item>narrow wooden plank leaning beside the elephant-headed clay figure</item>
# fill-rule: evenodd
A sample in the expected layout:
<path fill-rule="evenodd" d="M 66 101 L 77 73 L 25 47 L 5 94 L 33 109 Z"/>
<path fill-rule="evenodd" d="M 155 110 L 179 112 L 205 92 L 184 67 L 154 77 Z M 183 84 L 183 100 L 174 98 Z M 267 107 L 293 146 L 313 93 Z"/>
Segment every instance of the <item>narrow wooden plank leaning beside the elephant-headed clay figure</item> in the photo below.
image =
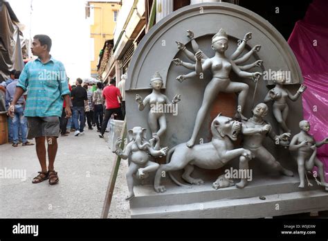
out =
<path fill-rule="evenodd" d="M 124 120 L 122 132 L 120 133 L 122 137 L 122 143 L 120 148 L 124 150 L 125 138 L 127 136 L 127 121 Z M 113 168 L 111 169 L 111 177 L 109 178 L 109 183 L 107 186 L 106 196 L 104 198 L 104 206 L 102 207 L 101 218 L 107 218 L 109 213 L 109 208 L 111 207 L 111 198 L 113 197 L 113 191 L 116 184 L 116 178 L 118 176 L 118 168 L 120 168 L 120 157 L 116 156 L 116 159 L 113 163 Z"/>

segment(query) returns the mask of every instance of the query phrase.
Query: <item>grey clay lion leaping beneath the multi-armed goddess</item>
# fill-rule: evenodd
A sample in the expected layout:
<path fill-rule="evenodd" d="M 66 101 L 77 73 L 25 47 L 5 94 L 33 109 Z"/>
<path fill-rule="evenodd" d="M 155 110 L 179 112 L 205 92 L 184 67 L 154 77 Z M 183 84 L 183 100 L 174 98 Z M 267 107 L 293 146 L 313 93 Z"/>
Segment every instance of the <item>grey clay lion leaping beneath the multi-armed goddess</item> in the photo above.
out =
<path fill-rule="evenodd" d="M 190 177 L 194 166 L 215 170 L 221 168 L 235 157 L 244 156 L 252 158 L 250 150 L 244 148 L 233 149 L 233 141 L 237 140 L 242 130 L 242 123 L 232 118 L 219 114 L 211 124 L 212 141 L 188 148 L 181 143 L 172 148 L 166 158 L 166 164 L 162 164 L 155 175 L 154 189 L 157 193 L 165 192 L 165 186 L 161 186 L 163 172 L 184 169 L 182 178 L 190 184 L 203 184 L 203 180 Z M 185 186 L 177 181 L 171 174 L 172 180 L 179 186 Z"/>

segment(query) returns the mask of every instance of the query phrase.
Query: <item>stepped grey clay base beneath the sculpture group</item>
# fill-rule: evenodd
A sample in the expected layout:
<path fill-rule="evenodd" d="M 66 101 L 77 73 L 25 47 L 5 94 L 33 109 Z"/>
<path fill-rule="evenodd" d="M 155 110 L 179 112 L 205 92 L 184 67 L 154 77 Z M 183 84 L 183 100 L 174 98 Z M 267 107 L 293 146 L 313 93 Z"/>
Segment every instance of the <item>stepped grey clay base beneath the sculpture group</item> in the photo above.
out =
<path fill-rule="evenodd" d="M 242 190 L 215 190 L 206 182 L 192 188 L 172 184 L 160 194 L 153 186 L 136 186 L 131 218 L 261 218 L 328 210 L 325 188 L 314 180 L 313 187 L 300 189 L 299 183 L 298 176 L 258 177 Z"/>

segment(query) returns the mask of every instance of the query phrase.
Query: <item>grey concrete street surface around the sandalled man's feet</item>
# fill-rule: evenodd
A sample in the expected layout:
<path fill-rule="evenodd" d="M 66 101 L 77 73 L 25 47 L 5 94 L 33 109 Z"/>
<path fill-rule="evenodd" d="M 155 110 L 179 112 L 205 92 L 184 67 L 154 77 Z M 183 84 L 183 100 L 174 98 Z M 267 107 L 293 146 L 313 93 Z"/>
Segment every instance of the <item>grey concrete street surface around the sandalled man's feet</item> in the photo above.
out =
<path fill-rule="evenodd" d="M 100 218 L 116 155 L 95 130 L 60 137 L 58 143 L 55 170 L 60 182 L 55 186 L 48 180 L 31 183 L 40 170 L 35 145 L 0 145 L 0 170 L 21 170 L 19 178 L 1 179 L 0 218 Z M 130 217 L 126 170 L 127 161 L 122 160 L 109 218 Z"/>

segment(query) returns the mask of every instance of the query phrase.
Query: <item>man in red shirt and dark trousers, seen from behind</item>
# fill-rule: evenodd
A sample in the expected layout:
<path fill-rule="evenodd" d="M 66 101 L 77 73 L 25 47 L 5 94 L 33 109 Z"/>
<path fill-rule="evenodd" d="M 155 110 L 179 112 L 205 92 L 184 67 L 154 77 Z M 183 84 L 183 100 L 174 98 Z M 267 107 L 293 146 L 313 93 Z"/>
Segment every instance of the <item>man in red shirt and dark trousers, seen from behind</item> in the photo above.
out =
<path fill-rule="evenodd" d="M 117 114 L 118 119 L 122 120 L 122 110 L 120 109 L 120 102 L 118 102 L 118 98 L 120 98 L 120 101 L 122 102 L 122 96 L 120 94 L 120 89 L 115 86 L 115 83 L 115 80 L 111 80 L 109 86 L 105 87 L 102 91 L 102 96 L 104 96 L 104 99 L 106 100 L 106 111 L 104 112 L 104 120 L 102 120 L 99 134 L 100 138 L 104 138 L 104 132 L 112 114 Z"/>

